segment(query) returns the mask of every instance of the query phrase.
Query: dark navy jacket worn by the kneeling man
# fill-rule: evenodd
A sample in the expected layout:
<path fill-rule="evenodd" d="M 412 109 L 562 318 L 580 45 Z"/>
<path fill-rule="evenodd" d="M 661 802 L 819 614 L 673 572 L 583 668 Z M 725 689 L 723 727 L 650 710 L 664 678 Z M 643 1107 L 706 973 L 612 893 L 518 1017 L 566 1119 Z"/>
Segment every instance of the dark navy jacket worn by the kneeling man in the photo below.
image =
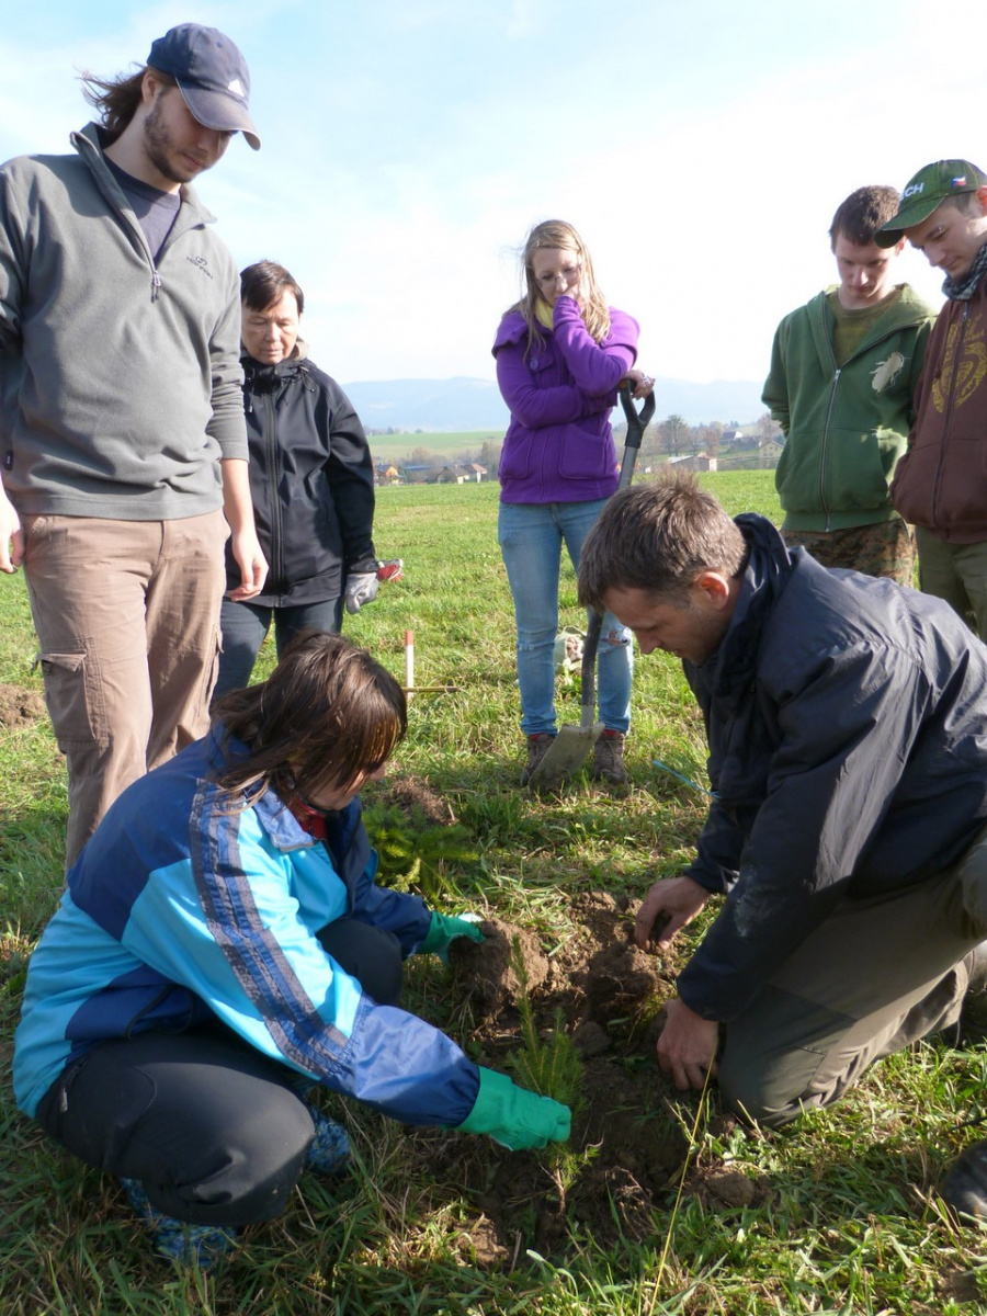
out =
<path fill-rule="evenodd" d="M 987 646 L 942 599 L 737 525 L 729 630 L 684 663 L 717 796 L 686 874 L 728 895 L 679 995 L 726 1021 L 841 898 L 942 873 L 987 821 Z"/>

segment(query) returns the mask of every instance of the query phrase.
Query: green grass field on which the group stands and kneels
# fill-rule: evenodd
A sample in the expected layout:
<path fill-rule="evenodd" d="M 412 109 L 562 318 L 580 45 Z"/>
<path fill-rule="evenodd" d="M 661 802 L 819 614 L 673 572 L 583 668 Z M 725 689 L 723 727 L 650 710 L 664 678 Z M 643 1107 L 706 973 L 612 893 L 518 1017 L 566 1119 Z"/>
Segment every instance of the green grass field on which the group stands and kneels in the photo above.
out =
<path fill-rule="evenodd" d="M 771 472 L 704 482 L 732 512 L 778 516 Z M 522 746 L 496 497 L 495 486 L 382 490 L 378 553 L 401 557 L 405 579 L 382 587 L 372 607 L 347 619 L 346 632 L 403 678 L 404 632 L 412 628 L 417 683 L 457 687 L 415 697 L 396 763 L 399 774 L 428 782 L 461 824 L 455 848 L 445 851 L 441 836 L 421 829 L 417 840 L 432 857 L 420 874 L 429 898 L 449 912 L 468 907 L 511 920 L 553 948 L 571 933 L 578 895 L 638 898 L 690 857 L 703 794 L 653 759 L 701 784 L 704 742 L 678 665 L 638 657 L 629 790 L 576 782 L 558 797 L 538 799 L 517 788 Z M 576 622 L 571 572 L 562 600 L 565 620 Z M 39 691 L 33 653 L 24 582 L 0 579 L 0 683 Z M 270 661 L 262 658 L 262 670 Z M 562 720 L 578 721 L 575 687 L 561 697 Z M 43 715 L 0 728 L 0 767 L 7 1071 L 25 957 L 62 882 L 64 779 Z M 371 832 L 374 822 L 371 805 Z M 408 854 L 416 848 L 409 828 Z M 409 1007 L 468 1046 L 468 1013 L 450 995 L 438 961 L 415 962 Z M 572 1219 L 551 1255 L 533 1250 L 519 1230 L 492 1263 L 476 1242 L 484 1199 L 475 1184 L 484 1175 L 492 1182 L 508 1153 L 484 1138 L 413 1134 L 350 1104 L 343 1117 L 357 1163 L 349 1178 L 304 1178 L 288 1212 L 249 1230 L 237 1258 L 207 1277 L 159 1266 L 117 1184 L 47 1144 L 14 1111 L 9 1073 L 4 1078 L 3 1316 L 987 1311 L 987 1240 L 961 1229 L 933 1192 L 957 1150 L 982 1136 L 974 1123 L 987 1078 L 982 1050 L 921 1045 L 876 1067 L 840 1105 L 782 1134 L 722 1121 L 715 1091 L 700 1100 L 667 1090 L 642 1136 L 651 1124 L 675 1126 L 688 1153 L 650 1230 L 628 1232 L 615 1245 Z M 537 1169 L 534 1153 L 516 1155 Z M 749 1180 L 751 1192 L 720 1200 L 690 1191 L 697 1170 L 716 1169 Z M 551 1191 L 547 1163 L 545 1174 Z M 619 1227 L 616 1205 L 615 1220 Z"/>

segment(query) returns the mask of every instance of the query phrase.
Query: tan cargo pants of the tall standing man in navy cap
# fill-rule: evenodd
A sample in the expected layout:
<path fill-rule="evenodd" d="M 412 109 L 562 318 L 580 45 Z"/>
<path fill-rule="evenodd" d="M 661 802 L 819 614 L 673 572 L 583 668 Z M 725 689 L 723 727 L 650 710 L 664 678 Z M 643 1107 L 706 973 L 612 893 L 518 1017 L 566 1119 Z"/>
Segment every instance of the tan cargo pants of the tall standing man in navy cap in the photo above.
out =
<path fill-rule="evenodd" d="M 130 782 L 208 729 L 228 533 L 222 512 L 25 517 L 45 700 L 68 766 L 66 867 Z"/>

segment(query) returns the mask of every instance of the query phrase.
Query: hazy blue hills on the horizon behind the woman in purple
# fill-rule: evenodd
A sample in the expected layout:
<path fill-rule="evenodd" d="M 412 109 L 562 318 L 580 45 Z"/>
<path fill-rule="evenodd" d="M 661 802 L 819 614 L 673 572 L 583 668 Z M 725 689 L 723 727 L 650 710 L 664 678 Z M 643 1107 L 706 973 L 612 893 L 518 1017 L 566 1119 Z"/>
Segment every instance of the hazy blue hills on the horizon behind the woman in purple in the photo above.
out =
<path fill-rule="evenodd" d="M 749 379 L 655 380 L 655 417 L 683 416 L 690 425 L 757 420 L 765 411 L 761 384 Z M 492 379 L 370 379 L 343 384 L 367 429 L 425 433 L 487 429 L 503 436 L 508 412 Z"/>

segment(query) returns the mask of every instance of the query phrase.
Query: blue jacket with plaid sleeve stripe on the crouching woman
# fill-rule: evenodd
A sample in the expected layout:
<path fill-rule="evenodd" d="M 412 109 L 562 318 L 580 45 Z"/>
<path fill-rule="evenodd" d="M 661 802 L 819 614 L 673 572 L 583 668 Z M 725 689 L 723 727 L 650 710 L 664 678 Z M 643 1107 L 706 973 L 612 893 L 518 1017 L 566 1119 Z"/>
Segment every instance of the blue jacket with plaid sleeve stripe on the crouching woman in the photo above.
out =
<path fill-rule="evenodd" d="M 67 1063 L 111 1037 L 216 1015 L 266 1055 L 409 1124 L 454 1128 L 476 1066 L 443 1033 L 378 1005 L 316 933 L 349 916 L 425 940 L 417 898 L 374 882 L 359 801 L 315 841 L 267 791 L 230 812 L 212 780 L 221 728 L 130 786 L 68 874 L 32 955 L 14 1040 L 17 1104 L 33 1115 Z"/>

